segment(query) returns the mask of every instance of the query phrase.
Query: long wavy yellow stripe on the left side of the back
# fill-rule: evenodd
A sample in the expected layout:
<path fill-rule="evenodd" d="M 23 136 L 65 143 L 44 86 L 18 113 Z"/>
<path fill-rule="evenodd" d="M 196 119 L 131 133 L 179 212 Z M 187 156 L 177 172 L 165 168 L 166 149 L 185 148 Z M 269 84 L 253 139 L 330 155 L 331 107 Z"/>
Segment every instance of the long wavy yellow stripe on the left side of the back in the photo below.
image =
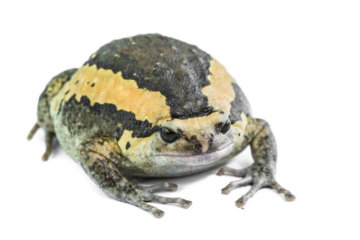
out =
<path fill-rule="evenodd" d="M 91 84 L 93 87 L 91 87 Z M 65 95 L 65 93 L 69 91 Z M 90 99 L 90 104 L 114 104 L 117 110 L 133 112 L 136 119 L 157 123 L 159 119 L 170 117 L 170 107 L 166 105 L 166 97 L 159 91 L 139 88 L 135 80 L 124 80 L 121 71 L 98 69 L 95 64 L 85 65 L 71 77 L 52 101 L 52 116 L 60 107 L 61 100 L 68 101 L 76 95 L 80 101 L 82 96 Z"/>

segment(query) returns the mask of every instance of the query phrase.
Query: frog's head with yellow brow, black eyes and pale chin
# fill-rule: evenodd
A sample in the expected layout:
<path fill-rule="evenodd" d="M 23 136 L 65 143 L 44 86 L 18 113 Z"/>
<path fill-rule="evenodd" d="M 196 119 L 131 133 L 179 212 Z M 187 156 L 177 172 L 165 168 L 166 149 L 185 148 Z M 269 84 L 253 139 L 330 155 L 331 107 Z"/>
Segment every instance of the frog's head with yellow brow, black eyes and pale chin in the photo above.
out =
<path fill-rule="evenodd" d="M 243 115 L 243 119 L 246 119 Z M 223 112 L 203 117 L 163 119 L 142 145 L 142 164 L 154 176 L 181 176 L 214 167 L 234 156 L 243 141 L 245 121 Z"/>

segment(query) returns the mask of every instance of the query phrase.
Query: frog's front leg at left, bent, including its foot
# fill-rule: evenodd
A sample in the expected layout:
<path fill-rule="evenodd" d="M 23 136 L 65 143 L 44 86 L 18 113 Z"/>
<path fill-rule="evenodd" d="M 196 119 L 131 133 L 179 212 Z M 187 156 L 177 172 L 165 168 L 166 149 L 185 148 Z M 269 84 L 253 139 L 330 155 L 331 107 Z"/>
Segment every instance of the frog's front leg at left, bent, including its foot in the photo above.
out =
<path fill-rule="evenodd" d="M 146 202 L 177 203 L 188 208 L 192 202 L 179 197 L 161 197 L 156 191 L 175 191 L 176 184 L 164 182 L 150 187 L 142 187 L 127 180 L 121 173 L 128 161 L 121 154 L 114 139 L 97 138 L 85 141 L 79 147 L 78 160 L 85 172 L 110 197 L 127 202 L 149 211 L 155 217 L 162 217 L 164 212 Z"/>

